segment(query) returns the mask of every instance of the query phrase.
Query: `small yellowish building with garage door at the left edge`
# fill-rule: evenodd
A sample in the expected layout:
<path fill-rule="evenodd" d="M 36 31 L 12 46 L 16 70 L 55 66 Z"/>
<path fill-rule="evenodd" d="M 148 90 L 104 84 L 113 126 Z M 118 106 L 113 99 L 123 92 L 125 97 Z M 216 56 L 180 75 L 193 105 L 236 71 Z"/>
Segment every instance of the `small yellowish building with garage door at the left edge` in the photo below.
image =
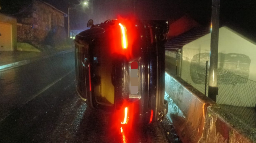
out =
<path fill-rule="evenodd" d="M 17 48 L 17 20 L 0 13 L 0 51 L 13 51 Z"/>

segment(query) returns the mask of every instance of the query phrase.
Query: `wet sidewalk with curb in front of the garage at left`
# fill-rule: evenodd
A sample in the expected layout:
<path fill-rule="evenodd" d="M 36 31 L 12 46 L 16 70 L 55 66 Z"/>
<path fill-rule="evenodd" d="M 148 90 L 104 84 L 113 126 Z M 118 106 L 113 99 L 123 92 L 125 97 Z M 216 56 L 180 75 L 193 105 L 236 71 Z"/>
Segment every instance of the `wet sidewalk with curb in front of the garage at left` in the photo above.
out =
<path fill-rule="evenodd" d="M 0 51 L 0 71 L 73 51 L 73 48 L 55 52 Z"/>

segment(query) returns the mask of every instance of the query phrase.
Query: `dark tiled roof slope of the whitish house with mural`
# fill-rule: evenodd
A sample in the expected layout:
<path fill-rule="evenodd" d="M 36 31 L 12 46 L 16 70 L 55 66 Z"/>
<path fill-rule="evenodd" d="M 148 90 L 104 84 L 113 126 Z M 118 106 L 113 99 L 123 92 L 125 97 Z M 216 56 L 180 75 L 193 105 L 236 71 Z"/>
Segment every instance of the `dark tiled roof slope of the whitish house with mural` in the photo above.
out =
<path fill-rule="evenodd" d="M 167 40 L 165 43 L 166 50 L 178 50 L 182 48 L 185 44 L 198 39 L 206 34 L 210 33 L 209 27 L 194 27 L 193 29 L 178 35 L 172 39 Z"/>

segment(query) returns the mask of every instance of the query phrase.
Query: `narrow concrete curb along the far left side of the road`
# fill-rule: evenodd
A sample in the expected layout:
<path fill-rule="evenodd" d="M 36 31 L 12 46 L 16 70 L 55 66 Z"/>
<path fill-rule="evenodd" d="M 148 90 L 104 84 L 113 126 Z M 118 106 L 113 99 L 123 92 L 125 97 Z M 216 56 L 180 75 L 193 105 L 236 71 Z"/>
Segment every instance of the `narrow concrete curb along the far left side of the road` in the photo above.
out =
<path fill-rule="evenodd" d="M 12 69 L 12 68 L 15 68 L 15 67 L 26 65 L 26 64 L 29 64 L 29 63 L 32 63 L 32 62 L 35 62 L 35 61 L 39 61 L 41 59 L 46 59 L 46 58 L 49 58 L 49 57 L 58 56 L 58 55 L 66 54 L 66 53 L 70 53 L 70 52 L 74 52 L 74 49 L 61 51 L 61 52 L 56 52 L 56 53 L 53 53 L 53 54 L 50 54 L 50 55 L 47 55 L 47 56 L 36 57 L 36 58 L 32 58 L 32 59 L 18 61 L 18 62 L 10 63 L 10 64 L 7 64 L 7 65 L 1 65 L 0 66 L 0 71 L 5 71 L 5 70 L 8 70 L 8 69 Z"/>

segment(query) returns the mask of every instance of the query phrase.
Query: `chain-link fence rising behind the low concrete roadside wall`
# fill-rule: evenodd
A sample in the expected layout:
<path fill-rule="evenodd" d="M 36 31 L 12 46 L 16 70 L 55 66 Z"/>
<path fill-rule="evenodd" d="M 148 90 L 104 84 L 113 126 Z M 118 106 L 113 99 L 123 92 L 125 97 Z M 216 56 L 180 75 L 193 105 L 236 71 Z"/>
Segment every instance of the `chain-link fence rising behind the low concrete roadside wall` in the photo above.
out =
<path fill-rule="evenodd" d="M 169 73 L 181 77 L 208 96 L 209 58 L 200 60 L 185 57 L 181 60 L 181 58 L 179 52 L 169 52 L 166 56 L 166 68 L 175 69 Z M 256 128 L 256 82 L 249 80 L 249 70 L 240 68 L 241 63 L 218 63 L 221 64 L 222 66 L 218 67 L 226 69 L 218 68 L 219 91 L 216 103 L 236 118 Z"/>

